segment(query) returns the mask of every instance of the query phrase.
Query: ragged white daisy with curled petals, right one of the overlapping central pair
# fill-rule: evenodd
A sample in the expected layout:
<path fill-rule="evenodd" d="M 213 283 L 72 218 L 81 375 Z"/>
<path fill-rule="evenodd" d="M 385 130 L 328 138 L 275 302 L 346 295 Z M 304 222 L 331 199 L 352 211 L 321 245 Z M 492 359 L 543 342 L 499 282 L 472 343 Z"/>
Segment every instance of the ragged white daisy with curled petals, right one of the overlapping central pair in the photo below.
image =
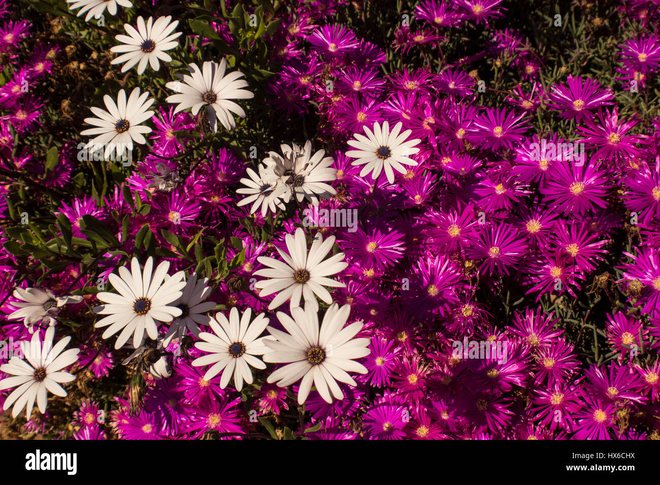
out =
<path fill-rule="evenodd" d="M 293 148 L 282 145 L 281 149 L 283 157 L 269 152 L 270 156 L 263 162 L 267 167 L 265 174 L 270 175 L 272 172 L 286 187 L 282 195 L 285 202 L 295 193 L 298 202 L 307 198 L 312 205 L 319 205 L 318 196 L 327 199 L 337 193 L 333 187 L 324 183 L 337 179 L 337 170 L 330 168 L 335 159 L 331 156 L 324 158 L 325 150 L 313 154 L 311 141 L 307 141 L 302 149 L 295 144 Z"/>

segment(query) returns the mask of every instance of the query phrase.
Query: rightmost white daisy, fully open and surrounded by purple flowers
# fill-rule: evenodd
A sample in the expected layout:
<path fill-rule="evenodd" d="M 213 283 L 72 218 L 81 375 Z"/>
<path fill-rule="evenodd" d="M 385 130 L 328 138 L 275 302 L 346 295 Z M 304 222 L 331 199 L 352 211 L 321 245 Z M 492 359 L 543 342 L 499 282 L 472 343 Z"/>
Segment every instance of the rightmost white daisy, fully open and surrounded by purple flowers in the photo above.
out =
<path fill-rule="evenodd" d="M 364 165 L 364 168 L 360 172 L 360 177 L 364 177 L 369 172 L 372 172 L 372 178 L 376 180 L 380 176 L 380 173 L 385 170 L 387 181 L 394 183 L 394 172 L 392 169 L 405 174 L 406 169 L 403 168 L 402 164 L 417 165 L 417 162 L 410 158 L 409 155 L 414 155 L 419 151 L 419 148 L 413 147 L 420 143 L 421 140 L 414 139 L 406 141 L 408 135 L 413 131 L 406 130 L 399 134 L 402 126 L 403 123 L 399 121 L 390 132 L 387 121 L 383 122 L 382 129 L 380 123 L 376 121 L 374 123 L 374 131 L 368 129 L 366 125 L 364 126 L 364 133 L 367 134 L 366 137 L 360 135 L 360 133 L 355 133 L 353 136 L 357 140 L 348 140 L 348 145 L 357 148 L 357 150 L 348 150 L 346 156 L 357 158 L 357 160 L 352 162 L 353 165 Z"/>

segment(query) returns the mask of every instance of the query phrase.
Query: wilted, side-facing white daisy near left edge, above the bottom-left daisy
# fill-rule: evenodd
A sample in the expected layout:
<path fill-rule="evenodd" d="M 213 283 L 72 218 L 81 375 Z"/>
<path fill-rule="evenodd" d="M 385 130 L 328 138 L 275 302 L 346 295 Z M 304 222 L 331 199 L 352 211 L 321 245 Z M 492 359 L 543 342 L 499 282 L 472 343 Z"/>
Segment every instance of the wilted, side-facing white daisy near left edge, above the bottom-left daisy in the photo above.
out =
<path fill-rule="evenodd" d="M 55 325 L 55 319 L 59 307 L 67 303 L 80 303 L 82 296 L 55 296 L 51 290 L 39 290 L 38 288 L 16 288 L 14 298 L 23 300 L 25 303 L 9 302 L 18 310 L 7 316 L 10 320 L 23 319 L 23 323 L 30 333 L 34 330 L 32 327 L 41 321 L 48 321 L 49 325 Z"/>

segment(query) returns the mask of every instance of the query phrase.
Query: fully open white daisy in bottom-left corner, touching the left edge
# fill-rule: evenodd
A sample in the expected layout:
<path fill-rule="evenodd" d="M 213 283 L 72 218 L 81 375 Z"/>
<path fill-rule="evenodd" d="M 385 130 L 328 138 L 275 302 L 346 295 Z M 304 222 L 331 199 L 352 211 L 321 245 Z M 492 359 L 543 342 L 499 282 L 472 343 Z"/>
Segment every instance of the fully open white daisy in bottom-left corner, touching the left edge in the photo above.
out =
<path fill-rule="evenodd" d="M 78 360 L 80 350 L 70 348 L 62 352 L 71 337 L 64 337 L 53 346 L 54 336 L 55 327 L 48 327 L 42 344 L 39 332 L 35 332 L 30 342 L 20 342 L 25 360 L 12 357 L 7 364 L 0 366 L 1 372 L 13 376 L 0 381 L 0 391 L 18 386 L 3 405 L 3 410 L 7 410 L 14 404 L 11 412 L 14 418 L 27 407 L 26 419 L 30 419 L 35 400 L 40 412 L 44 414 L 48 391 L 56 396 L 65 397 L 67 391 L 62 389 L 60 384 L 71 382 L 76 378 L 71 373 L 62 372 L 62 369 Z"/>

